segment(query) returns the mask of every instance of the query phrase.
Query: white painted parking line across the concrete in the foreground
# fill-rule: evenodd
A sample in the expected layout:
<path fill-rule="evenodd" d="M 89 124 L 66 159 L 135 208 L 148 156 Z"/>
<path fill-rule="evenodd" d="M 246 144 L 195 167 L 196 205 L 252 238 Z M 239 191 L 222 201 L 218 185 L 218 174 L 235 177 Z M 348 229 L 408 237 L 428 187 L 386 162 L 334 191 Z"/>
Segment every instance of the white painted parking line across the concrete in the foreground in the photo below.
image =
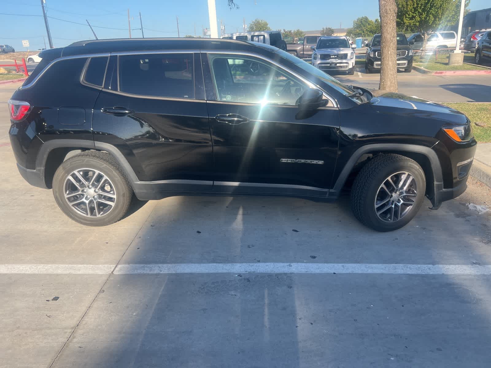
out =
<path fill-rule="evenodd" d="M 0 264 L 3 274 L 110 274 L 113 264 Z M 162 263 L 119 264 L 114 274 L 357 273 L 491 275 L 491 265 L 377 263 Z"/>

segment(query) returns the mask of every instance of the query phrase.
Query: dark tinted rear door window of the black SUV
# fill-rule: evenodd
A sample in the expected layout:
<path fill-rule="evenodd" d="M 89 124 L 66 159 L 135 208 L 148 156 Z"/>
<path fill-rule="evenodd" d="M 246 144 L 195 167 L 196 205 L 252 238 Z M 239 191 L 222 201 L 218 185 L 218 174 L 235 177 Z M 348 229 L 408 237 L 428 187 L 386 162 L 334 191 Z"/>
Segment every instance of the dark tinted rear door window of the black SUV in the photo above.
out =
<path fill-rule="evenodd" d="M 192 54 L 119 56 L 119 90 L 142 96 L 194 98 Z"/>

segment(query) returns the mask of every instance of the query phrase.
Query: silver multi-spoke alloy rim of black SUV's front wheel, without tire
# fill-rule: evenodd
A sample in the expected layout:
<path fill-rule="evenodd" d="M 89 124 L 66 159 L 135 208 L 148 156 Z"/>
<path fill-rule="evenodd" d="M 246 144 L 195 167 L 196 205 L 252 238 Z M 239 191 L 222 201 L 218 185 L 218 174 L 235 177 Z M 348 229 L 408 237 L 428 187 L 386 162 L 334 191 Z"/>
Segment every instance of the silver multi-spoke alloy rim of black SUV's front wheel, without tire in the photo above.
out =
<path fill-rule="evenodd" d="M 417 197 L 414 175 L 400 171 L 387 177 L 375 196 L 375 213 L 385 222 L 396 222 L 408 214 Z"/>

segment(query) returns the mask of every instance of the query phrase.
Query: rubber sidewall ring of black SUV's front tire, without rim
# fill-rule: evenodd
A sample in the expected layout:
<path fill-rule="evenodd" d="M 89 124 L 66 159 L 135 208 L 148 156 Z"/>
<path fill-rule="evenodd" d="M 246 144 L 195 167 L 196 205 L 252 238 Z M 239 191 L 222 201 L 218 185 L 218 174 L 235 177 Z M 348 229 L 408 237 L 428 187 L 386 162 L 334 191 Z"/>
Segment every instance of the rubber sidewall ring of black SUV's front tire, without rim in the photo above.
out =
<path fill-rule="evenodd" d="M 389 175 L 400 172 L 407 171 L 414 176 L 417 185 L 417 196 L 414 201 L 414 205 L 409 210 L 409 212 L 401 219 L 396 222 L 385 222 L 382 221 L 375 212 L 375 196 L 379 190 L 380 185 L 383 181 L 388 178 Z M 423 203 L 426 190 L 426 180 L 423 169 L 412 160 L 400 160 L 397 162 L 392 162 L 380 170 L 370 182 L 367 188 L 367 196 L 365 198 L 365 203 L 362 204 L 363 212 L 366 216 L 366 222 L 369 226 L 376 229 L 377 231 L 392 231 L 400 229 L 406 226 L 413 217 L 417 214 L 421 204 Z"/>

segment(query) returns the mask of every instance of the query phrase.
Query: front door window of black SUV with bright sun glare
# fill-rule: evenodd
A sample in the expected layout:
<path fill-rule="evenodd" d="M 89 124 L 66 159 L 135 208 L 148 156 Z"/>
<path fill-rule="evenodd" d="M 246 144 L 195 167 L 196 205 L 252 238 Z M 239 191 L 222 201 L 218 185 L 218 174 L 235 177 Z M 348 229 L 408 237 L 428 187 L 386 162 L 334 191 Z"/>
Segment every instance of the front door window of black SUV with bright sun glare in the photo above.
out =
<path fill-rule="evenodd" d="M 286 71 L 254 57 L 210 55 L 218 100 L 296 105 L 308 87 Z"/>

